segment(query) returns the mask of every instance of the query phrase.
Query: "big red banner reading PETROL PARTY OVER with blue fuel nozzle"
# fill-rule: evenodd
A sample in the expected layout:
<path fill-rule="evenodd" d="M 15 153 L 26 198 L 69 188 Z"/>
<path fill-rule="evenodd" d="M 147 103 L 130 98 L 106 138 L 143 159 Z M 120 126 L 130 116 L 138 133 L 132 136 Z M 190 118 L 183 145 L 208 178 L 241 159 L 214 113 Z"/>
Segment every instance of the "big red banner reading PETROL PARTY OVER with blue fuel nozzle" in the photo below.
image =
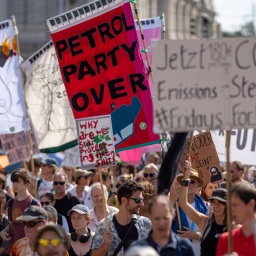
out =
<path fill-rule="evenodd" d="M 91 3 L 47 24 L 75 119 L 110 114 L 116 150 L 157 143 L 130 3 Z"/>

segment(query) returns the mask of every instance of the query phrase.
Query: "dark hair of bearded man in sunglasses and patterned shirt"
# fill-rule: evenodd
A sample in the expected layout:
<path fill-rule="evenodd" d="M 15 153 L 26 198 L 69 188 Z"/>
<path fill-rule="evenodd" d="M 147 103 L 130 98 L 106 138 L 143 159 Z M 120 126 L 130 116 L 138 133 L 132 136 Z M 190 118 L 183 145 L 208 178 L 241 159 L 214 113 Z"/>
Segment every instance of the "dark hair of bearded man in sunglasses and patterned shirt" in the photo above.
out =
<path fill-rule="evenodd" d="M 122 203 L 121 198 L 130 198 L 136 191 L 143 191 L 143 186 L 134 180 L 125 181 L 117 191 L 117 199 L 119 204 Z"/>

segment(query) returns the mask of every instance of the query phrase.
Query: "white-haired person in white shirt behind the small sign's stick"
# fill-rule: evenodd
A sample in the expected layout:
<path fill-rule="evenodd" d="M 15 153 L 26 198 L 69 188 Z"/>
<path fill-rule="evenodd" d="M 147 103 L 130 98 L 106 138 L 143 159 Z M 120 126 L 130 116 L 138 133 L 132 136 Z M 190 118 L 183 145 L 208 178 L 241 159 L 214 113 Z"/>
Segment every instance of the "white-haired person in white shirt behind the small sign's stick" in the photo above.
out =
<path fill-rule="evenodd" d="M 94 183 L 91 186 L 91 196 L 94 208 L 90 210 L 91 221 L 88 227 L 93 232 L 97 231 L 97 226 L 99 225 L 99 222 L 104 219 L 104 204 L 102 196 L 105 196 L 105 202 L 107 202 L 108 198 L 108 191 L 105 185 L 103 185 L 103 190 L 104 191 L 102 193 L 101 184 L 99 182 Z M 108 206 L 107 204 L 105 205 L 105 207 L 108 215 L 118 212 L 118 209 L 116 207 Z"/>

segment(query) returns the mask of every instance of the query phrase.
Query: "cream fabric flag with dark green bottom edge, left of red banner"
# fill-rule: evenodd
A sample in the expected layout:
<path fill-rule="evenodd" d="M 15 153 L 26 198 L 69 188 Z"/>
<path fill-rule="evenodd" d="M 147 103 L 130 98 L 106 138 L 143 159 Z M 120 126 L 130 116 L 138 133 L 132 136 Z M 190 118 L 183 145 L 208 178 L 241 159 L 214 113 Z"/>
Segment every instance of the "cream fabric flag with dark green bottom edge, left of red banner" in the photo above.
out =
<path fill-rule="evenodd" d="M 25 98 L 41 152 L 77 145 L 76 124 L 52 42 L 22 63 L 27 76 Z"/>

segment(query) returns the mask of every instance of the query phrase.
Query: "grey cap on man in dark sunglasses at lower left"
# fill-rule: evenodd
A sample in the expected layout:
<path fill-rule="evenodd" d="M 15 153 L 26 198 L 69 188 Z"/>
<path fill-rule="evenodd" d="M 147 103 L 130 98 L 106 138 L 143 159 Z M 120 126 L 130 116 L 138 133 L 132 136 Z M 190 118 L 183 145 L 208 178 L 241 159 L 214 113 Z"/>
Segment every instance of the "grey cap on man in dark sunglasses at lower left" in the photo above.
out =
<path fill-rule="evenodd" d="M 30 221 L 35 219 L 48 220 L 48 214 L 46 210 L 37 205 L 30 205 L 25 209 L 20 217 L 16 218 L 18 221 Z"/>

